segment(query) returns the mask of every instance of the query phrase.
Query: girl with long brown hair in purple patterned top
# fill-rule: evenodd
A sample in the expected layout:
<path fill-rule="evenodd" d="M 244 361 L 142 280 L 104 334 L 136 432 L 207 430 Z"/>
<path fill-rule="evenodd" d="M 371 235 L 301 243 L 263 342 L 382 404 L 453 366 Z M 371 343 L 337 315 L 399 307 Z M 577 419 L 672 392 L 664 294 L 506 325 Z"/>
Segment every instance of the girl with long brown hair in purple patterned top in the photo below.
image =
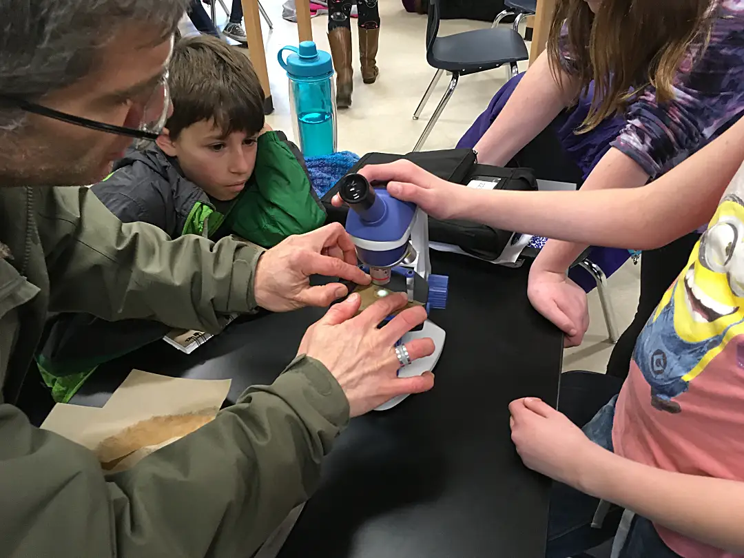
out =
<path fill-rule="evenodd" d="M 584 189 L 637 187 L 743 110 L 744 2 L 559 0 L 547 51 L 496 94 L 458 147 Z M 638 310 L 608 373 L 626 376 L 638 334 L 698 236 L 644 252 Z M 585 248 L 548 241 L 530 271 L 530 301 L 567 345 L 580 344 L 589 325 L 586 295 L 566 276 Z"/>

